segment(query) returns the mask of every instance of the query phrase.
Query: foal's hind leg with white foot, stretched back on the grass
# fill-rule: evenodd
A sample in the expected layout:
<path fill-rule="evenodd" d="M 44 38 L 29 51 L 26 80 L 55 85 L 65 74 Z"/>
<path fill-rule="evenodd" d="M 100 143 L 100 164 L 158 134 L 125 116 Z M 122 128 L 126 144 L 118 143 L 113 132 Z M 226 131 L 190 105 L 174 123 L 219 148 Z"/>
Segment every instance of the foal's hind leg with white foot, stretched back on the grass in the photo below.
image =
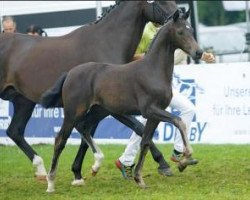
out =
<path fill-rule="evenodd" d="M 50 171 L 47 176 L 47 181 L 48 181 L 47 192 L 55 191 L 55 177 L 56 177 L 58 159 L 66 145 L 66 142 L 73 128 L 74 128 L 73 123 L 70 121 L 67 121 L 67 117 L 65 116 L 62 128 L 55 138 L 54 154 L 53 154 L 53 158 L 51 162 Z"/>

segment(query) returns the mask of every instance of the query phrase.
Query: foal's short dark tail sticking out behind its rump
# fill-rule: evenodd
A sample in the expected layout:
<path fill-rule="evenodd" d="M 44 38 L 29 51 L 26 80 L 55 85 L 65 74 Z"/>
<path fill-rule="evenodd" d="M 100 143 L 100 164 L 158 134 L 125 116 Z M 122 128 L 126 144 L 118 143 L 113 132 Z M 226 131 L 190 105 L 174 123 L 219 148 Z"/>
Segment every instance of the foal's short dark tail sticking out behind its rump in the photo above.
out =
<path fill-rule="evenodd" d="M 67 77 L 67 73 L 64 73 L 58 78 L 55 85 L 45 91 L 40 99 L 40 104 L 44 108 L 60 107 L 62 103 L 62 87 Z"/>

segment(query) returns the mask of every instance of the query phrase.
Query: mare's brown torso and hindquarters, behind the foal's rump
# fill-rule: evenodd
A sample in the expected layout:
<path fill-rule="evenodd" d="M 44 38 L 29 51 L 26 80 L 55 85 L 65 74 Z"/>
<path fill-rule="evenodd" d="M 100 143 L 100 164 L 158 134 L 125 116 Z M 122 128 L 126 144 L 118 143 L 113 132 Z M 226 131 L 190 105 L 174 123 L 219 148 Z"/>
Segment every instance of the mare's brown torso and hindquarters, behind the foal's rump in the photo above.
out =
<path fill-rule="evenodd" d="M 81 63 L 76 43 L 70 37 L 1 34 L 0 91 L 13 86 L 36 102 L 63 72 Z"/>

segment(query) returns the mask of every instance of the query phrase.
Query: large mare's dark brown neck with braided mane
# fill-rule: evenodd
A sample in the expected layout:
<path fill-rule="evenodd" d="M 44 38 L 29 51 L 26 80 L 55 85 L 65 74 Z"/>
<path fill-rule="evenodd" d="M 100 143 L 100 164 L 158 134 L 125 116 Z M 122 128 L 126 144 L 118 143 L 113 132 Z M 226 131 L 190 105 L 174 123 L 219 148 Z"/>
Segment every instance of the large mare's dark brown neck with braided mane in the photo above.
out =
<path fill-rule="evenodd" d="M 121 2 L 99 22 L 89 25 L 89 30 L 93 30 L 90 34 L 107 41 L 110 49 L 115 51 L 116 60 L 124 63 L 132 60 L 147 22 L 142 15 L 141 6 L 136 6 L 135 3 L 139 2 Z M 81 35 L 78 44 L 84 45 L 86 33 L 80 30 L 78 34 Z"/>

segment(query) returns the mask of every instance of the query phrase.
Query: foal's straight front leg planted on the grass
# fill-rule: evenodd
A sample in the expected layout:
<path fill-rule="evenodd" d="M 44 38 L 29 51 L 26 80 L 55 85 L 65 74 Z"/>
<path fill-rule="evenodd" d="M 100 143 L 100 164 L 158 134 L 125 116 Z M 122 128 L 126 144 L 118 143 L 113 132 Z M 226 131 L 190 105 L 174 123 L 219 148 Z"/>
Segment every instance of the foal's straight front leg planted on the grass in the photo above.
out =
<path fill-rule="evenodd" d="M 138 164 L 135 167 L 135 176 L 134 176 L 134 180 L 142 188 L 145 188 L 146 184 L 145 184 L 145 182 L 144 182 L 144 180 L 142 178 L 141 170 L 143 168 L 145 157 L 146 157 L 146 154 L 148 152 L 151 140 L 153 138 L 154 131 L 157 128 L 158 124 L 159 124 L 159 121 L 148 119 L 147 122 L 146 122 L 146 126 L 145 126 L 143 136 L 142 136 L 141 152 L 140 152 Z"/>

